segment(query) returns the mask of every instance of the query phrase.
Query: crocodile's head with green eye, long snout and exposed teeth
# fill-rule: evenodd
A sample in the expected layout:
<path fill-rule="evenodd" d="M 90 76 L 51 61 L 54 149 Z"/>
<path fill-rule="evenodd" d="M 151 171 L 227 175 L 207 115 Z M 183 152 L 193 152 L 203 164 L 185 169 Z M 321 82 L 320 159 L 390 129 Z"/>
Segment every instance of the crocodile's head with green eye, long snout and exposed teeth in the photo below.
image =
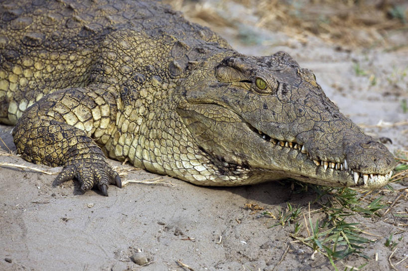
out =
<path fill-rule="evenodd" d="M 178 113 L 224 181 L 375 188 L 390 180 L 393 155 L 340 113 L 288 54 L 230 56 L 200 76 L 205 80 L 185 88 Z"/>

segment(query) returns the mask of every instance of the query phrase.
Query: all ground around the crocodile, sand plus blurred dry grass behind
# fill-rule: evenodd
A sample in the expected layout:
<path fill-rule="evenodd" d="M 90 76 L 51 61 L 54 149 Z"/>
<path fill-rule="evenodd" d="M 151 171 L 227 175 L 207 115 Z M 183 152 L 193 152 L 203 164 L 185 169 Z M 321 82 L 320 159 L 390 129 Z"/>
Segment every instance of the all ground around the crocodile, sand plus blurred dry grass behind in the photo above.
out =
<path fill-rule="evenodd" d="M 387 147 L 407 158 L 408 35 L 399 18 L 388 17 L 393 4 L 404 7 L 404 2 L 378 1 L 387 4 L 360 6 L 357 11 L 348 6 L 353 1 L 324 5 L 332 2 L 310 1 L 298 9 L 281 1 L 173 3 L 193 20 L 205 20 L 242 53 L 287 51 L 302 67 L 314 71 L 343 113 L 365 132 L 390 138 L 393 144 Z M 366 9 L 367 13 L 358 12 Z M 291 19 L 296 10 L 303 16 Z M 329 29 L 324 20 L 315 25 L 319 10 L 331 12 L 321 13 L 330 14 Z M 376 15 L 379 22 L 367 15 L 373 10 L 382 14 Z M 308 11 L 312 15 L 306 16 Z M 344 14 L 347 18 L 342 20 Z M 282 21 L 274 23 L 275 18 Z M 333 22 L 336 27 L 331 29 Z M 386 22 L 392 27 L 379 26 Z M 351 29 L 344 37 L 336 34 L 347 28 Z M 356 37 L 353 31 L 365 34 L 351 41 Z M 375 46 L 356 46 L 366 43 Z M 334 270 L 322 254 L 324 248 L 309 246 L 311 225 L 317 222 L 323 228 L 327 219 L 323 205 L 341 206 L 332 194 L 319 198 L 321 190 L 292 187 L 290 181 L 200 187 L 130 170 L 116 161 L 111 163 L 127 173 L 126 179 L 138 183 L 122 189 L 110 186 L 109 197 L 97 191 L 82 194 L 75 182 L 52 187 L 55 175 L 30 169 L 52 173 L 58 168 L 32 165 L 10 155 L 9 150 L 15 150 L 10 131 L 11 127 L 0 126 L 7 145 L 0 142 L 0 163 L 9 165 L 0 168 L 1 270 Z M 361 237 L 372 242 L 361 245 L 361 254 L 335 261 L 339 270 L 365 264 L 362 270 L 408 269 L 407 181 L 355 195 L 358 204 L 348 206 L 352 215 L 346 222 L 359 223 Z M 373 208 L 373 214 L 355 211 L 381 196 L 379 202 L 386 206 Z M 325 236 L 323 232 L 318 240 Z M 146 266 L 131 260 L 138 249 L 149 262 Z"/>

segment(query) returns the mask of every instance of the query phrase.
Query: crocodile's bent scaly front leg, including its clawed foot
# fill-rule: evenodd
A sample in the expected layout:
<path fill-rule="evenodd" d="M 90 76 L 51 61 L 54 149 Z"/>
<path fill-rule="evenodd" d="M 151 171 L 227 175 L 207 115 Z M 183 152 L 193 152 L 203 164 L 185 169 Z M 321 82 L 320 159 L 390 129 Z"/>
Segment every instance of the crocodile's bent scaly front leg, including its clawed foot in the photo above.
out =
<path fill-rule="evenodd" d="M 108 195 L 108 184 L 121 187 L 121 179 L 97 142 L 109 140 L 116 113 L 112 87 L 58 90 L 29 107 L 17 121 L 13 130 L 17 152 L 29 162 L 63 166 L 54 185 L 76 178 L 83 191 L 96 186 Z"/>

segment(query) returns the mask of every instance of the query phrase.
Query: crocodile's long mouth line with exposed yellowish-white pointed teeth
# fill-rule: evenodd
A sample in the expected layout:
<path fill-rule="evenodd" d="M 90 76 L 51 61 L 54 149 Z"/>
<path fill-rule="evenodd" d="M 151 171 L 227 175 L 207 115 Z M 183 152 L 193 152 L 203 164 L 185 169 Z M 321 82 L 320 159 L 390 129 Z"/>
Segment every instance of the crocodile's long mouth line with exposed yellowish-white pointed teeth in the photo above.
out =
<path fill-rule="evenodd" d="M 365 174 L 365 173 L 357 172 L 349 167 L 346 159 L 343 161 L 343 163 L 311 159 L 309 153 L 307 152 L 306 148 L 302 144 L 297 143 L 295 141 L 278 140 L 278 139 L 272 138 L 271 136 L 263 133 L 262 131 L 257 130 L 255 127 L 252 127 L 251 125 L 250 127 L 264 141 L 270 142 L 272 145 L 278 146 L 281 148 L 289 148 L 289 149 L 297 150 L 299 153 L 306 155 L 308 159 L 311 160 L 316 165 L 316 168 L 321 167 L 324 171 L 333 170 L 333 171 L 349 172 L 350 176 L 353 177 L 353 181 L 355 185 L 357 185 L 359 182 L 363 185 L 367 185 L 369 182 L 370 183 L 376 183 L 379 181 L 382 182 L 385 179 L 389 180 L 391 176 L 393 175 L 393 171 L 390 171 L 389 173 L 385 175 Z"/>

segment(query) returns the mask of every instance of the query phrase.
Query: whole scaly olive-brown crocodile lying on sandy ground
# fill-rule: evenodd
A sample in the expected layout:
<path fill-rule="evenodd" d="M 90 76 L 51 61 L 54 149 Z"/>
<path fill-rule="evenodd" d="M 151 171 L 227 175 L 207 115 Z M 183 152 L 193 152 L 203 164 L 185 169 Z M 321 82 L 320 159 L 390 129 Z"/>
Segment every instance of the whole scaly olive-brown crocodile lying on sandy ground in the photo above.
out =
<path fill-rule="evenodd" d="M 241 55 L 155 1 L 0 5 L 0 121 L 24 159 L 64 167 L 56 184 L 107 195 L 106 156 L 203 185 L 390 179 L 387 148 L 284 52 Z"/>

